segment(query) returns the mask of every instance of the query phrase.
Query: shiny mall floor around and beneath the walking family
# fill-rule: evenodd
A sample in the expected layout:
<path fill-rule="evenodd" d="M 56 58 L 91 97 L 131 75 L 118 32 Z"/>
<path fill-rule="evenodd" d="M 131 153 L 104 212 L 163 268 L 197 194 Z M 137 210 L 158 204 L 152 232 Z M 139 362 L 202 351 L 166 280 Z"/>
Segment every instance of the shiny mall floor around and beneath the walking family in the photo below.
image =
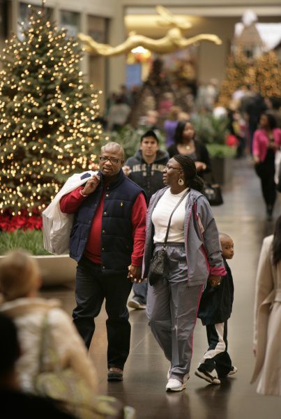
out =
<path fill-rule="evenodd" d="M 225 204 L 213 207 L 220 231 L 231 235 L 235 255 L 229 261 L 234 277 L 234 308 L 229 320 L 229 353 L 238 372 L 221 385 L 208 385 L 195 376 L 197 363 L 206 351 L 206 332 L 197 322 L 190 380 L 186 390 L 165 392 L 169 367 L 151 335 L 144 311 L 130 311 L 132 324 L 131 352 L 123 383 L 107 383 L 105 310 L 96 321 L 96 333 L 90 350 L 100 378 L 100 394 L 119 397 L 134 406 L 137 419 L 280 419 L 281 398 L 257 395 L 250 385 L 254 365 L 252 353 L 252 319 L 255 273 L 261 242 L 273 231 L 265 219 L 259 179 L 251 163 L 234 161 L 233 182 L 225 187 Z M 274 219 L 281 214 L 278 201 Z M 71 314 L 74 286 L 46 289 L 45 297 L 59 297 Z"/>

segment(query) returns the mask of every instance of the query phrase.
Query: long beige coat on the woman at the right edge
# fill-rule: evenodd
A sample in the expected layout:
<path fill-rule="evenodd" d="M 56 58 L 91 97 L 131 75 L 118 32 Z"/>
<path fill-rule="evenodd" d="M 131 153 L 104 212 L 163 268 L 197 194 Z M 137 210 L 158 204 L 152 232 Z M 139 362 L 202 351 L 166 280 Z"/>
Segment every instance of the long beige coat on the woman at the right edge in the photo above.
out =
<path fill-rule="evenodd" d="M 254 345 L 257 347 L 251 383 L 259 376 L 257 392 L 281 396 L 281 261 L 273 265 L 273 235 L 264 239 L 255 292 Z"/>

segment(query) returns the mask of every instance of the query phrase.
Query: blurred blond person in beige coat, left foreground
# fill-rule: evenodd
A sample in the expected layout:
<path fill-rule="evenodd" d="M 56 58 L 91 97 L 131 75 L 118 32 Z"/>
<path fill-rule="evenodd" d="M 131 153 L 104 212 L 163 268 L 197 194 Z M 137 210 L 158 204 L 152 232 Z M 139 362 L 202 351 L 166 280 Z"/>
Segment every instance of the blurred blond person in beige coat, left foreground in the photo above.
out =
<path fill-rule="evenodd" d="M 0 313 L 13 319 L 17 327 L 22 352 L 15 367 L 20 388 L 24 392 L 36 393 L 41 336 L 47 315 L 49 344 L 57 348 L 57 357 L 50 364 L 50 370 L 56 371 L 66 365 L 72 367 L 95 395 L 98 378 L 84 342 L 68 314 L 60 308 L 59 300 L 38 297 L 41 285 L 39 267 L 29 253 L 11 251 L 0 261 L 0 290 L 4 299 Z"/>

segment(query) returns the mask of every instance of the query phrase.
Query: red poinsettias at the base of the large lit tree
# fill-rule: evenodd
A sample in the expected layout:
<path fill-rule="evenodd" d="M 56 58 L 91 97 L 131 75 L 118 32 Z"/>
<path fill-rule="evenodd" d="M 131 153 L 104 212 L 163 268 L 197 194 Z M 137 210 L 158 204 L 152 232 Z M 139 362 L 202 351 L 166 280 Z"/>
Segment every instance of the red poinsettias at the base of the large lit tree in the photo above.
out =
<path fill-rule="evenodd" d="M 20 215 L 13 215 L 10 212 L 5 212 L 0 215 L 0 230 L 1 231 L 15 231 L 15 230 L 42 230 L 42 216 L 39 211 L 33 210 L 33 214 L 22 211 Z"/>

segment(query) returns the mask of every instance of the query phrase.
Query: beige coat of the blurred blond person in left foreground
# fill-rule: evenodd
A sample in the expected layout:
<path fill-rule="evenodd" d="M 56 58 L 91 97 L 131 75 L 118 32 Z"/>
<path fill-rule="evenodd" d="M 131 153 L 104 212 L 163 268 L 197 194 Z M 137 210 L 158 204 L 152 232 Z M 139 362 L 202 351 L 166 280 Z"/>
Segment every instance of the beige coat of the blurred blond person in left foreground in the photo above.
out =
<path fill-rule="evenodd" d="M 86 380 L 94 395 L 98 382 L 96 369 L 89 360 L 82 338 L 70 316 L 59 308 L 59 301 L 43 298 L 18 298 L 0 305 L 0 312 L 12 318 L 17 326 L 22 355 L 16 368 L 22 390 L 35 391 L 33 381 L 38 374 L 42 326 L 46 311 L 59 367 L 73 367 L 77 374 Z"/>

